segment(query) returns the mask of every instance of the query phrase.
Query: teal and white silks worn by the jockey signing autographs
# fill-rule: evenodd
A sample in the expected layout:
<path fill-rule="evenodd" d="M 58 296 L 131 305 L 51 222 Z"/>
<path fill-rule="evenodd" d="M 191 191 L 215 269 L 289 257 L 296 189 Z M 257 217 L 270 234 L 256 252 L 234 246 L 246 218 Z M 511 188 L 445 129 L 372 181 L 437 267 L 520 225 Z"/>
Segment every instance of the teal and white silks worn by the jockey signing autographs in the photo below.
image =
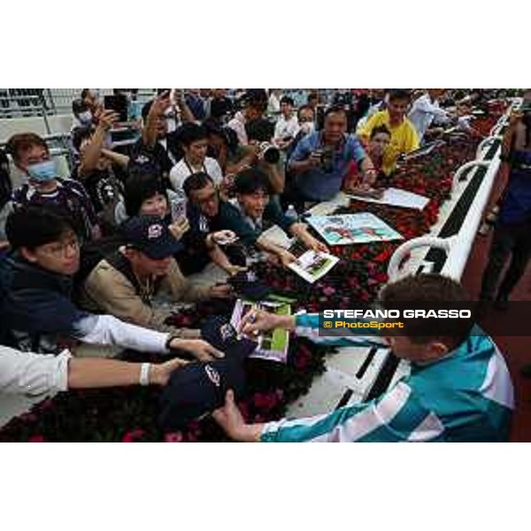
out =
<path fill-rule="evenodd" d="M 319 337 L 319 316 L 298 315 L 296 333 L 338 346 L 379 338 Z M 266 424 L 263 442 L 502 442 L 514 397 L 504 358 L 478 328 L 448 356 L 425 365 L 379 398 L 308 419 Z"/>

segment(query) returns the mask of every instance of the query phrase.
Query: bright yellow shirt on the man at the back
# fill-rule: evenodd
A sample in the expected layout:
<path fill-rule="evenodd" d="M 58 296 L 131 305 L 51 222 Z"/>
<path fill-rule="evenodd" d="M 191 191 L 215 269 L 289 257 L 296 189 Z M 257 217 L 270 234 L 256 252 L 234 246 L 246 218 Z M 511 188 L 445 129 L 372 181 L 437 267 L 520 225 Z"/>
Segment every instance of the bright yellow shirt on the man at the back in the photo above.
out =
<path fill-rule="evenodd" d="M 383 164 L 381 169 L 386 175 L 389 175 L 396 165 L 396 159 L 403 153 L 417 150 L 419 148 L 419 135 L 412 122 L 404 118 L 399 126 L 391 127 L 389 123 L 389 111 L 376 112 L 366 121 L 366 124 L 360 128 L 358 135 L 368 141 L 374 127 L 385 126 L 391 132 L 391 142 L 383 154 Z"/>

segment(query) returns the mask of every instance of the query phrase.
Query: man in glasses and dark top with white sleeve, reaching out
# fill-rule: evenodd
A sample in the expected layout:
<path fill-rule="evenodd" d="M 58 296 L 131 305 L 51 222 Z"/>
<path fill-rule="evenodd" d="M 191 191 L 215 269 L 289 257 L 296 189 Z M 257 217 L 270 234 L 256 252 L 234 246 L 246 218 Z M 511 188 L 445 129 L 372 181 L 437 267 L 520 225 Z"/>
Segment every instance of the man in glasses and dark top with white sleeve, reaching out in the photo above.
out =
<path fill-rule="evenodd" d="M 187 350 L 199 359 L 222 355 L 201 340 L 78 310 L 71 292 L 80 266 L 79 243 L 70 222 L 58 213 L 36 207 L 13 212 L 6 234 L 12 252 L 0 262 L 0 344 L 50 354 L 81 341 L 142 352 Z"/>

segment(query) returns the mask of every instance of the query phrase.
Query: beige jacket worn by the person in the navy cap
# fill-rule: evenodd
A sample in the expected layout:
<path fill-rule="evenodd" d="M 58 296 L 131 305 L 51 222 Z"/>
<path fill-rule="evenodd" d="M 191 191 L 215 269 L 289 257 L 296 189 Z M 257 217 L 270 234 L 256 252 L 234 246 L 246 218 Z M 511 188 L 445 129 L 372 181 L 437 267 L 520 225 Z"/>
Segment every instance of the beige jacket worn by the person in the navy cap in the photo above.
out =
<path fill-rule="evenodd" d="M 174 303 L 195 303 L 208 298 L 208 286 L 194 286 L 188 281 L 174 259 L 157 293 L 165 293 Z M 107 260 L 102 260 L 89 274 L 81 294 L 81 306 L 89 312 L 110 313 L 135 325 L 160 332 L 171 332 L 184 338 L 196 338 L 198 330 L 165 325 L 172 315 L 171 306 L 150 306 L 136 293 L 135 286 Z"/>

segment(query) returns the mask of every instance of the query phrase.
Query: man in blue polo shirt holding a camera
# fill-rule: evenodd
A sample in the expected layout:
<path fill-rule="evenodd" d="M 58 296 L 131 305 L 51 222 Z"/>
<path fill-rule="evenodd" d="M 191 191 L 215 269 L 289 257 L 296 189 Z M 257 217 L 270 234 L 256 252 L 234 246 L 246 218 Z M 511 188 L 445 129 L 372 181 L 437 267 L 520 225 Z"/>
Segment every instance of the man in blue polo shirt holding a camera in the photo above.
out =
<path fill-rule="evenodd" d="M 289 169 L 295 174 L 296 191 L 305 201 L 328 201 L 342 187 L 350 161 L 355 160 L 368 180 L 374 167 L 358 138 L 348 135 L 347 114 L 342 107 L 325 112 L 322 131 L 306 136 L 289 158 Z"/>

